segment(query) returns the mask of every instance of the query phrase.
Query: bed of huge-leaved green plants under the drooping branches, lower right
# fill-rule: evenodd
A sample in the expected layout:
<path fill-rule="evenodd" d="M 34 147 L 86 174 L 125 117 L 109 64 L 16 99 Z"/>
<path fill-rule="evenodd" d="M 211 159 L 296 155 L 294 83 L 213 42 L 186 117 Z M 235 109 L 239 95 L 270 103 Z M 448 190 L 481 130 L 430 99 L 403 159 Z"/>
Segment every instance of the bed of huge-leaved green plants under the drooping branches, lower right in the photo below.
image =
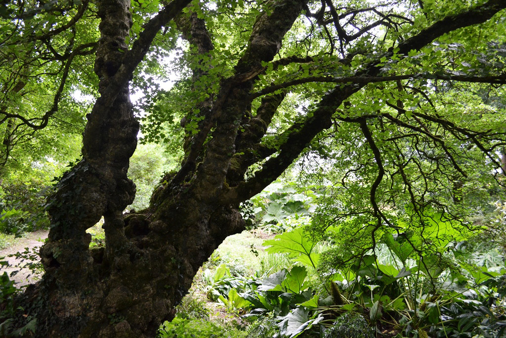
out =
<path fill-rule="evenodd" d="M 265 266 L 257 276 L 269 271 L 269 266 L 276 266 L 275 273 L 243 282 L 238 288 L 223 287 L 218 298 L 230 313 L 249 312 L 243 317 L 252 320 L 250 337 L 255 332 L 279 337 L 367 337 L 375 336 L 375 327 L 406 337 L 500 336 L 504 328 L 500 306 L 506 289 L 501 277 L 506 272 L 503 256 L 486 246 L 483 248 L 489 251 L 476 251 L 476 243 L 465 241 L 472 234 L 461 231 L 462 222 L 440 213 L 426 212 L 419 222 L 423 226 L 410 228 L 399 220 L 399 233 L 378 231 L 372 250 L 367 238 L 362 239 L 358 243 L 365 243 L 363 250 L 337 266 L 329 258 L 335 246 L 347 240 L 339 238 L 340 226 L 329 227 L 326 237 L 319 236 L 327 243 L 324 255 L 316 254 L 321 252 L 320 244 L 310 228 L 297 227 L 264 241 L 267 255 L 257 251 Z M 241 245 L 248 247 L 246 242 Z M 219 256 L 222 266 L 215 275 L 206 273 L 208 284 L 231 276 L 223 264 L 234 261 L 233 256 L 232 252 Z M 304 266 L 294 265 L 296 262 Z M 334 264 L 330 275 L 337 284 L 330 284 L 330 290 L 320 287 L 321 294 L 315 294 L 308 271 L 330 262 Z M 327 278 L 320 276 L 315 284 L 325 284 Z M 338 317 L 335 324 L 328 314 Z"/>

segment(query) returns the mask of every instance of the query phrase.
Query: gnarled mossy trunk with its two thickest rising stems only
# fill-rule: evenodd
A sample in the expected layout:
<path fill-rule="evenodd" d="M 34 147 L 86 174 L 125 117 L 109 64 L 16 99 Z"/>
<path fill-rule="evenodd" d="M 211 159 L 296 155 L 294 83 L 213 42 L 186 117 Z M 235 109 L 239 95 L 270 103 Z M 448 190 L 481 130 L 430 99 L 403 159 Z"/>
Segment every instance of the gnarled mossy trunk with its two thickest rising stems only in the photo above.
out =
<path fill-rule="evenodd" d="M 167 183 L 153 193 L 149 208 L 124 216 L 135 196 L 126 173 L 139 130 L 128 81 L 118 81 L 131 14 L 129 0 L 99 2 L 95 72 L 101 97 L 88 116 L 83 159 L 50 197 L 52 228 L 40 250 L 46 274 L 25 294 L 39 307 L 37 335 L 154 336 L 163 320 L 174 317 L 202 263 L 227 236 L 244 229 L 240 199 L 224 202 L 223 197 L 244 97 L 261 62 L 273 59 L 301 10 L 302 1 L 284 1 L 258 18 L 237 75 L 223 86 L 218 104 L 207 106 L 216 127 L 205 156 L 202 143 L 210 125 L 187 142 L 183 169 L 163 179 Z M 197 155 L 203 156 L 198 167 Z M 102 216 L 105 249 L 90 250 L 86 230 Z"/>

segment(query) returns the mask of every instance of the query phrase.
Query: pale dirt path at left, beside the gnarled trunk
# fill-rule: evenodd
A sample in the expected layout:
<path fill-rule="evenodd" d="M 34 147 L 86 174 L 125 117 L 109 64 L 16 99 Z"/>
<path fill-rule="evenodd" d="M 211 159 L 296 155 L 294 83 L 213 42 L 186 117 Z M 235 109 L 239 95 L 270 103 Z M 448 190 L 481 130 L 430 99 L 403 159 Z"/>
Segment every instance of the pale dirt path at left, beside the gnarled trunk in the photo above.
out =
<path fill-rule="evenodd" d="M 20 242 L 6 248 L 3 250 L 0 250 L 0 260 L 8 261 L 9 266 L 0 266 L 0 275 L 4 274 L 4 271 L 11 276 L 11 273 L 14 271 L 19 272 L 10 277 L 11 280 L 16 281 L 16 286 L 23 286 L 27 284 L 34 283 L 38 280 L 39 276 L 33 275 L 32 272 L 28 268 L 22 268 L 27 262 L 33 262 L 36 260 L 23 260 L 23 258 L 16 258 L 16 257 L 7 257 L 11 254 L 16 254 L 17 252 L 24 252 L 25 248 L 36 248 L 36 252 L 38 252 L 38 248 L 44 244 L 44 240 L 48 238 L 48 230 L 37 230 L 30 234 L 29 237 L 21 240 Z M 30 252 L 33 252 L 30 250 Z M 5 258 L 2 258 L 4 257 Z M 21 270 L 20 270 L 21 268 Z"/>

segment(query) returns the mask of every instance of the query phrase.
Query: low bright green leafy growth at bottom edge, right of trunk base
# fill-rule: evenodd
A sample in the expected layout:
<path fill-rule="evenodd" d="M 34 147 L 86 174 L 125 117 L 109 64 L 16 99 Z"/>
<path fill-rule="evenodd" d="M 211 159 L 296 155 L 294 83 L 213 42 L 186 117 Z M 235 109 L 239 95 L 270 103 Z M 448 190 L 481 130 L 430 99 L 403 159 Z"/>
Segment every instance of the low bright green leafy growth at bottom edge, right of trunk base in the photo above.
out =
<path fill-rule="evenodd" d="M 218 325 L 202 319 L 176 317 L 163 323 L 159 331 L 161 338 L 242 338 L 246 333 L 230 326 Z"/>

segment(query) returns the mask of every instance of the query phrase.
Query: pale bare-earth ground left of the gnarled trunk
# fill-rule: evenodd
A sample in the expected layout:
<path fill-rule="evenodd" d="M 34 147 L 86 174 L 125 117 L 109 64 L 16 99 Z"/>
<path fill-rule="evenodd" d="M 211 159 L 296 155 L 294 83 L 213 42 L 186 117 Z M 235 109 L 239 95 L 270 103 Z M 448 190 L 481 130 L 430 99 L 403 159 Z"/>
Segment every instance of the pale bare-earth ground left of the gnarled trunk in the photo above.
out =
<path fill-rule="evenodd" d="M 49 230 L 37 230 L 30 233 L 26 238 L 22 238 L 13 245 L 0 250 L 0 261 L 7 261 L 7 265 L 0 267 L 0 275 L 7 272 L 11 280 L 17 283 L 17 287 L 35 283 L 40 278 L 39 273 L 41 270 L 38 269 L 39 273 L 33 273 L 27 265 L 38 262 L 36 259 L 38 256 L 33 253 L 38 253 L 38 249 L 44 244 L 44 240 L 48 238 L 48 233 Z M 11 276 L 11 273 L 15 271 L 19 272 Z"/>

